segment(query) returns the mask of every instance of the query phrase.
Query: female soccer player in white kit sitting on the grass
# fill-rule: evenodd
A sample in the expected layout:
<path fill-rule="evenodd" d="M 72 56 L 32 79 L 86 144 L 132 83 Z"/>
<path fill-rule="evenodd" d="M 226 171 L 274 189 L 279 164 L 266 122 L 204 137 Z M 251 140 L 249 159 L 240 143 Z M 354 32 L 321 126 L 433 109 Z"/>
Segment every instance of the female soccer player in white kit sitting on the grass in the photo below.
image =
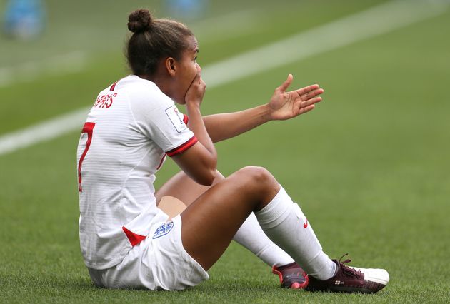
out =
<path fill-rule="evenodd" d="M 307 290 L 384 288 L 386 270 L 328 258 L 299 205 L 266 169 L 246 167 L 228 178 L 216 171 L 214 142 L 311 111 L 323 90 L 314 85 L 286 92 L 289 75 L 264 106 L 202 117 L 206 86 L 192 32 L 143 9 L 130 14 L 128 27 L 134 33 L 127 45 L 133 74 L 99 93 L 78 147 L 80 243 L 94 283 L 182 290 L 209 278 L 206 270 L 236 238 L 278 273 L 301 265 L 309 274 L 301 283 Z M 187 116 L 174 101 L 186 106 Z M 166 155 L 182 172 L 155 193 L 155 173 Z M 166 195 L 189 207 L 169 220 L 156 207 Z M 255 233 L 252 245 L 249 235 Z M 277 253 L 265 256 L 261 244 Z"/>

